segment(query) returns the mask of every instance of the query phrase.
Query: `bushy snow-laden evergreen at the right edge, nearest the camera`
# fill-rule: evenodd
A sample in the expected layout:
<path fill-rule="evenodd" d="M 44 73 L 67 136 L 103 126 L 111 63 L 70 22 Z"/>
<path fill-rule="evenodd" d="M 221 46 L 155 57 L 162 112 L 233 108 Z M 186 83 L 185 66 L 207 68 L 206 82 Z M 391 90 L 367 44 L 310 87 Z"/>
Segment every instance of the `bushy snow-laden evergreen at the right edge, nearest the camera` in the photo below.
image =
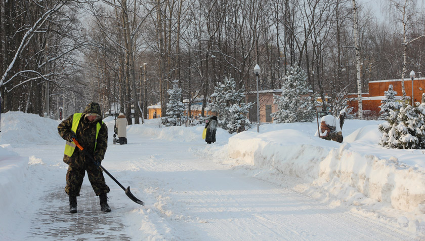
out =
<path fill-rule="evenodd" d="M 382 132 L 379 145 L 397 149 L 425 148 L 425 103 L 390 110 L 387 122 L 380 124 Z"/>

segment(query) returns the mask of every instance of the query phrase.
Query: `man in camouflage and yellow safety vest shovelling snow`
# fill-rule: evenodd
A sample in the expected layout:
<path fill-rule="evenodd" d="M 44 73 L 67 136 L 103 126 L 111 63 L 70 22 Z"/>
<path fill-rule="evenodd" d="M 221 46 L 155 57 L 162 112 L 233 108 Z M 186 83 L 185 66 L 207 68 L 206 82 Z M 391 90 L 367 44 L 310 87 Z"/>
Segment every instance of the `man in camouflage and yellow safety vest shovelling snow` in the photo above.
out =
<path fill-rule="evenodd" d="M 102 121 L 100 105 L 90 103 L 83 113 L 75 113 L 63 120 L 58 126 L 58 131 L 59 135 L 67 141 L 63 162 L 68 164 L 65 192 L 69 196 L 69 212 L 77 212 L 77 196 L 79 196 L 86 171 L 93 190 L 100 198 L 101 210 L 111 212 L 106 196 L 110 189 L 105 183 L 101 169 L 72 143 L 72 138 L 75 138 L 84 150 L 93 153 L 97 163 L 102 162 L 108 147 L 108 128 Z M 67 148 L 72 150 L 69 151 Z"/>

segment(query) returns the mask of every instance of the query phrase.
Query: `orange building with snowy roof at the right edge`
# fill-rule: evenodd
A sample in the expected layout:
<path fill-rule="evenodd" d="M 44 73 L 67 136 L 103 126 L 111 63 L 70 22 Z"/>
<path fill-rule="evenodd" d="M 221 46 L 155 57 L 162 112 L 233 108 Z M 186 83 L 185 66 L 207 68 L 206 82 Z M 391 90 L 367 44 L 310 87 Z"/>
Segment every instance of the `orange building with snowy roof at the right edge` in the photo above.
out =
<path fill-rule="evenodd" d="M 406 91 L 406 102 L 411 104 L 412 99 L 412 82 L 413 82 L 413 100 L 414 102 L 421 102 L 422 94 L 425 91 L 425 78 L 405 78 L 404 79 L 404 90 Z M 368 110 L 372 113 L 371 115 L 379 115 L 381 100 L 385 99 L 385 91 L 388 91 L 388 87 L 393 85 L 394 91 L 397 92 L 395 99 L 401 101 L 401 79 L 389 79 L 386 81 L 370 81 L 369 82 L 369 93 L 362 93 L 362 105 L 363 110 Z M 348 94 L 349 98 L 348 105 L 354 107 L 353 111 L 357 112 L 359 109 L 357 93 Z"/>

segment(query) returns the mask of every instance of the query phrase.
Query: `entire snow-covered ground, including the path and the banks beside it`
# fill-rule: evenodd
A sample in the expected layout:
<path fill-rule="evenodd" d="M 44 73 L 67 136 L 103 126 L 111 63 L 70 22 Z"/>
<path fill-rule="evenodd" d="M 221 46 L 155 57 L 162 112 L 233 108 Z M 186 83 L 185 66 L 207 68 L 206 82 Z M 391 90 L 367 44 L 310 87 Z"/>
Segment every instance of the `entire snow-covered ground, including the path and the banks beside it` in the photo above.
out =
<path fill-rule="evenodd" d="M 112 212 L 100 218 L 121 223 L 116 230 L 91 222 L 69 228 L 90 213 L 80 203 L 68 213 L 59 121 L 1 117 L 0 240 L 72 240 L 76 233 L 81 240 L 122 233 L 124 240 L 425 238 L 425 152 L 378 146 L 378 121 L 346 120 L 343 143 L 315 137 L 317 123 L 296 123 L 262 125 L 260 133 L 219 129 L 208 145 L 202 126 L 165 128 L 153 119 L 128 127 L 128 145 L 113 145 L 114 119 L 105 118 L 102 165 L 146 203 L 133 203 L 105 174 Z M 83 187 L 91 189 L 87 177 Z M 102 232 L 87 231 L 96 229 Z"/>

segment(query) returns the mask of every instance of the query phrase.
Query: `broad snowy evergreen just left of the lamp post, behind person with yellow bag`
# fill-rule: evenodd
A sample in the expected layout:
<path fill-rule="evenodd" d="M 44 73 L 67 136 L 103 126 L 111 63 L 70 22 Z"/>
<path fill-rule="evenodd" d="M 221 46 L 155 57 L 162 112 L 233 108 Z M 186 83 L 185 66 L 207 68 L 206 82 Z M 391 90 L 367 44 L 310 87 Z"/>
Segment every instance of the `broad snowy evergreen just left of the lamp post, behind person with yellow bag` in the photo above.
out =
<path fill-rule="evenodd" d="M 206 109 L 217 114 L 219 127 L 227 130 L 229 133 L 241 132 L 245 127 L 250 128 L 251 123 L 246 117 L 252 103 L 242 103 L 245 99 L 244 87 L 236 90 L 234 78 L 225 78 L 223 83 L 218 83 L 214 87 L 214 93 L 211 95 L 211 103 L 208 103 Z"/>

